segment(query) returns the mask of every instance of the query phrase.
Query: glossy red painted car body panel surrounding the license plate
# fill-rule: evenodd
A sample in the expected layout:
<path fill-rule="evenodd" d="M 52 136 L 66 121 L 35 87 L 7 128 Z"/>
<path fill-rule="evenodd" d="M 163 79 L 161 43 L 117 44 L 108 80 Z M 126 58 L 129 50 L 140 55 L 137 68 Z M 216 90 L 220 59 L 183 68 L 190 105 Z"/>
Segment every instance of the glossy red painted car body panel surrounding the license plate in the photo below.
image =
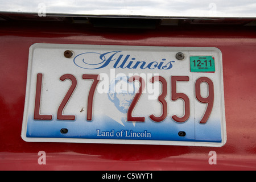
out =
<path fill-rule="evenodd" d="M 9 23 L 0 28 L 1 170 L 255 170 L 255 27 L 181 26 L 154 30 L 68 23 Z M 223 147 L 28 143 L 20 137 L 28 48 L 33 43 L 217 47 L 223 56 L 227 142 Z M 39 151 L 46 164 L 39 164 Z M 210 165 L 209 152 L 217 164 Z"/>

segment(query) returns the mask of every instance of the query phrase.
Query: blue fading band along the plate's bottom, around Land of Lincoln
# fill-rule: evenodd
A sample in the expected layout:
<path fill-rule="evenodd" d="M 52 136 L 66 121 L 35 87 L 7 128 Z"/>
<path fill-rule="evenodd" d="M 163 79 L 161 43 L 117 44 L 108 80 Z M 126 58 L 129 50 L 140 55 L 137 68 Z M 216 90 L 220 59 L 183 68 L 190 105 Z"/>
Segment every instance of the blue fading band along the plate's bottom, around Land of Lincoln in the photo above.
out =
<path fill-rule="evenodd" d="M 76 121 L 35 121 L 32 117 L 28 119 L 27 137 L 35 138 L 86 138 L 86 139 L 133 139 L 133 140 L 175 140 L 196 142 L 221 142 L 220 121 L 210 119 L 206 124 L 200 124 L 188 120 L 177 123 L 167 118 L 163 122 L 153 122 L 146 118 L 145 122 L 125 122 L 125 126 L 114 121 L 108 116 L 98 117 L 93 121 L 76 119 Z M 60 133 L 61 129 L 68 129 L 68 133 Z M 99 131 L 97 131 L 99 130 Z M 102 131 L 112 132 L 114 136 L 100 136 Z M 122 131 L 123 130 L 123 131 Z M 146 133 L 147 137 L 127 137 L 130 133 Z M 178 135 L 179 131 L 186 133 L 185 137 Z M 117 137 L 118 133 L 122 136 Z M 150 133 L 150 134 L 149 134 Z M 150 135 L 150 137 L 148 137 Z"/>

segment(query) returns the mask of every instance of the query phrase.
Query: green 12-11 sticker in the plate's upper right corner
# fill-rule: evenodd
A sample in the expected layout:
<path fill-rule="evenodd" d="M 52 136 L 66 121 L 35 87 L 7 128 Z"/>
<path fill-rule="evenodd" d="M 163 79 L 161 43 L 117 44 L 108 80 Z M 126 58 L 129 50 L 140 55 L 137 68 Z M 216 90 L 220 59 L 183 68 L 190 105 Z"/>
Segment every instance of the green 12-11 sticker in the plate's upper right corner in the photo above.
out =
<path fill-rule="evenodd" d="M 215 64 L 212 56 L 191 56 L 191 72 L 215 72 Z"/>

